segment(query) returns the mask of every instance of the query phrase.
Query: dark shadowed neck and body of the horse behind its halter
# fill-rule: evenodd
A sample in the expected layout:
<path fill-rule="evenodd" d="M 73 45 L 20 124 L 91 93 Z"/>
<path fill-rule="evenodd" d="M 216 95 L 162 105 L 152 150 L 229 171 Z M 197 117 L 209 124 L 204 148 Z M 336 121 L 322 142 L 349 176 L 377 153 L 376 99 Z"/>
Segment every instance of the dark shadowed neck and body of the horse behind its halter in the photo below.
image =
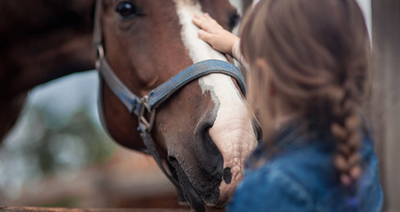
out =
<path fill-rule="evenodd" d="M 0 1 L 0 139 L 15 123 L 29 89 L 94 69 L 94 3 Z"/>

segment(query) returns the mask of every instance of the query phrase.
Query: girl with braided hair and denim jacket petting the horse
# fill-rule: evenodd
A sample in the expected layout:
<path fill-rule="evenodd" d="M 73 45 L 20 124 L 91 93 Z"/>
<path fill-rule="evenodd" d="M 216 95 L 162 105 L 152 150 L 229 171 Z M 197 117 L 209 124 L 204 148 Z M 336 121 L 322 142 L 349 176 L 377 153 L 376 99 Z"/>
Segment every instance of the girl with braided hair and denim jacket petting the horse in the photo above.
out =
<path fill-rule="evenodd" d="M 370 40 L 356 2 L 261 0 L 241 40 L 208 14 L 193 23 L 247 67 L 264 128 L 228 211 L 380 211 L 377 157 L 360 114 Z"/>

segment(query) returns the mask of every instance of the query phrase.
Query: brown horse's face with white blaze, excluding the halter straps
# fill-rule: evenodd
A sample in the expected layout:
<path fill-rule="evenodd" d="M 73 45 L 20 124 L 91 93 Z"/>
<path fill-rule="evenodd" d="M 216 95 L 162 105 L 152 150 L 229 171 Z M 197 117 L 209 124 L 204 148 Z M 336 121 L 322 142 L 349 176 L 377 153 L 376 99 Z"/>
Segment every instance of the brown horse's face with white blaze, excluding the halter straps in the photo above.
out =
<path fill-rule="evenodd" d="M 115 73 L 144 96 L 195 62 L 227 60 L 198 38 L 191 20 L 203 12 L 228 29 L 237 19 L 228 0 L 103 1 L 105 55 Z M 103 99 L 110 135 L 127 147 L 144 148 L 136 116 L 108 87 Z M 152 136 L 196 211 L 227 203 L 244 159 L 257 145 L 244 96 L 224 74 L 201 77 L 173 94 L 157 108 Z"/>

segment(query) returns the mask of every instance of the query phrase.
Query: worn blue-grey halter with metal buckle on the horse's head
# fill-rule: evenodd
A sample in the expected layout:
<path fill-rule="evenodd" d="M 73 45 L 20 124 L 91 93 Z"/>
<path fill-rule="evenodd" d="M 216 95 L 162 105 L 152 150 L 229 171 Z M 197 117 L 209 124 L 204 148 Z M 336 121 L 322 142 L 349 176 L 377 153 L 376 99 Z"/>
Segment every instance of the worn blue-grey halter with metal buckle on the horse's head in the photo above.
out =
<path fill-rule="evenodd" d="M 144 141 L 144 145 L 147 147 L 147 150 L 138 151 L 152 154 L 154 160 L 156 160 L 162 172 L 166 174 L 166 177 L 168 177 L 168 179 L 170 179 L 171 182 L 175 184 L 175 186 L 180 188 L 181 186 L 176 181 L 176 179 L 174 179 L 171 174 L 168 174 L 168 172 L 166 172 L 161 157 L 159 156 L 159 152 L 157 152 L 154 145 L 154 140 L 149 134 L 152 130 L 154 118 L 156 116 L 156 108 L 158 108 L 162 102 L 164 102 L 166 99 L 168 99 L 176 91 L 184 87 L 189 82 L 192 82 L 195 79 L 212 73 L 227 74 L 229 77 L 233 77 L 234 79 L 236 79 L 236 82 L 239 85 L 242 94 L 246 94 L 246 87 L 241 72 L 237 67 L 230 64 L 229 62 L 224 62 L 222 60 L 205 60 L 184 69 L 182 72 L 176 74 L 175 77 L 168 79 L 168 81 L 164 82 L 164 84 L 161 84 L 159 87 L 156 87 L 156 89 L 150 91 L 148 95 L 139 97 L 135 95 L 132 91 L 130 91 L 130 89 L 125 86 L 125 84 L 122 83 L 122 81 L 115 74 L 113 69 L 108 64 L 107 59 L 105 58 L 100 15 L 101 0 L 97 0 L 93 30 L 93 44 L 97 52 L 96 69 L 98 70 L 100 79 L 98 111 L 103 128 L 105 128 L 105 130 L 107 129 L 104 122 L 102 104 L 103 99 L 101 95 L 104 80 L 111 91 L 113 91 L 115 96 L 117 96 L 122 104 L 127 107 L 127 110 L 130 113 L 134 113 L 139 120 L 139 127 L 137 128 L 137 130 L 140 131 L 140 136 L 142 137 L 142 140 Z M 151 114 L 151 118 L 149 121 L 144 118 L 144 113 L 146 111 L 147 113 Z"/>

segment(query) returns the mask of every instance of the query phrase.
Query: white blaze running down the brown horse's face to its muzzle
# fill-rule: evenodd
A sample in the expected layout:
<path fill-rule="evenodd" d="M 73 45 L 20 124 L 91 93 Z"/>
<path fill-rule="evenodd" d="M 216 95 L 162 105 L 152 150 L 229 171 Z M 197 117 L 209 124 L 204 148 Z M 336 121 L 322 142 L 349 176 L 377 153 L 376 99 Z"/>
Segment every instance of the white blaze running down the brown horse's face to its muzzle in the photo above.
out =
<path fill-rule="evenodd" d="M 198 38 L 199 28 L 192 22 L 195 13 L 203 13 L 198 1 L 175 2 L 182 24 L 181 37 L 193 63 L 210 59 L 227 61 L 224 55 Z M 243 162 L 257 146 L 256 135 L 246 103 L 231 77 L 225 74 L 208 74 L 201 77 L 199 83 L 203 94 L 210 91 L 212 100 L 218 107 L 217 118 L 210 128 L 210 136 L 224 157 L 224 168 L 230 167 L 232 171 L 231 184 L 222 181 L 219 187 L 221 195 L 226 198 L 226 195 L 232 195 L 236 184 L 241 180 Z"/>

